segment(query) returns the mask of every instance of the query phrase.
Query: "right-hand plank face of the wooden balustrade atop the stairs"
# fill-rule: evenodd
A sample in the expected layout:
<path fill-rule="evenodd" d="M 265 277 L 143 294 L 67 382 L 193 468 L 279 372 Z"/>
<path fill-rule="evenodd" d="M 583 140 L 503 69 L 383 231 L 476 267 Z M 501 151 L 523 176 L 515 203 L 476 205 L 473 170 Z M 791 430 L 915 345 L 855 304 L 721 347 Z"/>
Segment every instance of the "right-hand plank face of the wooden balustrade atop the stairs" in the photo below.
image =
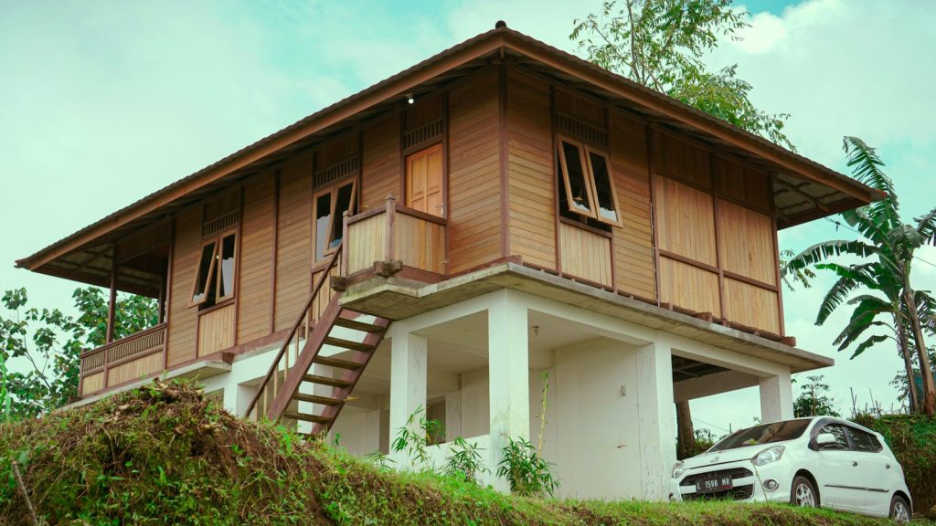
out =
<path fill-rule="evenodd" d="M 397 212 L 393 242 L 393 254 L 403 265 L 438 274 L 446 271 L 445 226 Z"/>

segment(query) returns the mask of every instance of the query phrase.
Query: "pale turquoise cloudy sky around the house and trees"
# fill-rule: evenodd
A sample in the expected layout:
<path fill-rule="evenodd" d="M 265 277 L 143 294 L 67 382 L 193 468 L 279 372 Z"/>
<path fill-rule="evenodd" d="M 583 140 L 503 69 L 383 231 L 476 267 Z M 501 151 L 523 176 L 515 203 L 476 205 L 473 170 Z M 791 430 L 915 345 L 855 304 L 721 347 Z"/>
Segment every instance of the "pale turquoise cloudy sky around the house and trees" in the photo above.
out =
<path fill-rule="evenodd" d="M 143 2 L 0 0 L 0 290 L 70 310 L 76 284 L 13 269 L 82 226 L 491 29 L 497 20 L 565 51 L 573 21 L 599 1 Z M 750 28 L 710 66 L 737 64 L 755 105 L 790 113 L 800 153 L 847 173 L 841 138 L 876 146 L 905 219 L 936 205 L 936 2 L 746 0 Z M 830 222 L 781 232 L 782 249 L 851 238 Z M 936 285 L 936 250 L 914 286 Z M 928 263 L 929 262 L 929 263 Z M 840 411 L 885 407 L 901 367 L 893 345 L 861 357 L 832 341 L 847 313 L 813 321 L 832 280 L 784 291 L 798 346 L 836 358 L 826 381 Z M 795 390 L 798 388 L 794 387 Z M 795 392 L 796 394 L 796 392 Z M 693 402 L 716 434 L 752 423 L 756 389 Z"/>

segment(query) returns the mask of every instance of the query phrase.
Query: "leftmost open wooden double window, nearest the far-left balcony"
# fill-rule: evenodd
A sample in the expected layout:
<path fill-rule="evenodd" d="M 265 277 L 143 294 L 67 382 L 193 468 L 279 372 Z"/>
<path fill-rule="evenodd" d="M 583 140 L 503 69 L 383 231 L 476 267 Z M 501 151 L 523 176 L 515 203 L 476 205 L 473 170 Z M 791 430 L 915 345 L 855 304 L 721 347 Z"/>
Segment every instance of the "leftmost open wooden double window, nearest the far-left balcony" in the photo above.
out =
<path fill-rule="evenodd" d="M 192 305 L 210 307 L 234 297 L 237 271 L 237 231 L 227 230 L 201 245 L 192 287 Z"/>

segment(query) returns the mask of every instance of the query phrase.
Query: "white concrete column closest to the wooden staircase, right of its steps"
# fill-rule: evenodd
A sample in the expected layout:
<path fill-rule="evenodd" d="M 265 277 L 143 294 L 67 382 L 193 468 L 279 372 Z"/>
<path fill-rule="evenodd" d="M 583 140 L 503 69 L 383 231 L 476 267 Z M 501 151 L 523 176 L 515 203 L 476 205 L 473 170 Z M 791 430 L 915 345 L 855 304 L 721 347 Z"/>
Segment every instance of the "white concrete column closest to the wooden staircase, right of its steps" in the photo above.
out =
<path fill-rule="evenodd" d="M 406 425 L 409 416 L 416 413 L 417 409 L 426 410 L 426 354 L 428 350 L 429 343 L 423 336 L 406 330 L 392 334 L 389 429 L 391 450 L 397 432 Z M 390 457 L 399 468 L 411 467 L 410 459 L 405 453 L 392 453 L 391 451 Z"/>

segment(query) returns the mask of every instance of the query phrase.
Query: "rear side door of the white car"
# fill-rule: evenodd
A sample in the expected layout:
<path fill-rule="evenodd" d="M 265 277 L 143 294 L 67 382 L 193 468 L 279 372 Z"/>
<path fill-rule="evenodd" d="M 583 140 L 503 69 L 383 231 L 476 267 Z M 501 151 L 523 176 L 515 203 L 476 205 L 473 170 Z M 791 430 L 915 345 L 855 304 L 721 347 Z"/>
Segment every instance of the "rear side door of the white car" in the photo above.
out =
<path fill-rule="evenodd" d="M 847 426 L 845 431 L 851 440 L 854 461 L 857 463 L 855 485 L 865 489 L 864 495 L 856 503 L 857 507 L 875 515 L 888 514 L 890 494 L 894 489 L 892 481 L 897 473 L 894 460 L 881 454 L 884 447 L 876 436 Z"/>

